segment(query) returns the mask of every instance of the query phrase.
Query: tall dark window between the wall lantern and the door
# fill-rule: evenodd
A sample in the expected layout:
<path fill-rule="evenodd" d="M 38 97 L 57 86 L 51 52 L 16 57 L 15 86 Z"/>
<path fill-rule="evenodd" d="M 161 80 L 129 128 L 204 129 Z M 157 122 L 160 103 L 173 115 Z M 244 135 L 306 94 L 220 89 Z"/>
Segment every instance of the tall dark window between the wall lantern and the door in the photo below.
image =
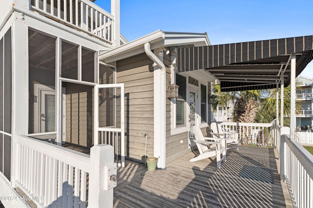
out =
<path fill-rule="evenodd" d="M 179 97 L 176 99 L 176 126 L 183 126 L 186 125 L 186 77 L 176 74 L 176 84 L 179 86 Z"/>

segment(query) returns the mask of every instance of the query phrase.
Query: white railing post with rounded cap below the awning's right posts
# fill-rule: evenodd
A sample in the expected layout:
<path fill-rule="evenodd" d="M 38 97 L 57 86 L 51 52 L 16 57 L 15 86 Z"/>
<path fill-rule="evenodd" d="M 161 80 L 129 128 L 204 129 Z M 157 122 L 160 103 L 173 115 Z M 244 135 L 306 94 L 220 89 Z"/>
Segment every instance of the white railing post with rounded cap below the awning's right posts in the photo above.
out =
<path fill-rule="evenodd" d="M 282 127 L 280 129 L 280 180 L 285 181 L 286 179 L 286 141 L 285 141 L 285 134 L 289 135 L 290 128 L 289 127 Z"/>

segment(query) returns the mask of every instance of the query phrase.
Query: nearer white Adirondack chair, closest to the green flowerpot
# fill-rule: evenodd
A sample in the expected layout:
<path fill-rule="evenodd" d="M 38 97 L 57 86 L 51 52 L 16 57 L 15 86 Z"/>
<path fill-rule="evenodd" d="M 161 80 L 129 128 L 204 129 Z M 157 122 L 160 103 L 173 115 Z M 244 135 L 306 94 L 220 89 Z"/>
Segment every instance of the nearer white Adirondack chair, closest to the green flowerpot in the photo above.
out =
<path fill-rule="evenodd" d="M 217 139 L 204 137 L 200 128 L 196 126 L 193 127 L 193 130 L 196 138 L 194 142 L 196 143 L 200 154 L 197 157 L 191 158 L 189 161 L 194 162 L 216 156 L 217 167 L 221 168 L 221 162 L 226 161 L 226 140 L 224 138 Z M 214 139 L 215 141 L 210 141 L 212 139 Z M 210 145 L 211 147 L 209 148 L 208 145 Z M 222 158 L 221 154 L 223 155 Z"/>

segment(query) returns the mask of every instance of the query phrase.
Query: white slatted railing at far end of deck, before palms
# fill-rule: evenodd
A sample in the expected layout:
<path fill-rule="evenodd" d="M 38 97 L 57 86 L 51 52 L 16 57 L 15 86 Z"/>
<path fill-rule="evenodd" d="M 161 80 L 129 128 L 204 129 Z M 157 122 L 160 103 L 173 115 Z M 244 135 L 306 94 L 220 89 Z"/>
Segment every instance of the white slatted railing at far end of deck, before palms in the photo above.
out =
<path fill-rule="evenodd" d="M 242 144 L 273 146 L 275 128 L 272 123 L 222 122 L 221 125 L 226 131 L 238 132 Z"/>

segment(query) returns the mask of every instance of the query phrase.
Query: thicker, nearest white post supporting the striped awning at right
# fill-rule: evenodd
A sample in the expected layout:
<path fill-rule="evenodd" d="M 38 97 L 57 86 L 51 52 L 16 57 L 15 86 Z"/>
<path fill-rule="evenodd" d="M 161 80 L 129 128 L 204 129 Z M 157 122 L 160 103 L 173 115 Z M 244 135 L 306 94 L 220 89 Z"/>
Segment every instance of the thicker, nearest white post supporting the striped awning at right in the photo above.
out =
<path fill-rule="evenodd" d="M 295 130 L 295 53 L 291 53 L 291 75 L 290 75 L 290 138 L 294 139 Z"/>

